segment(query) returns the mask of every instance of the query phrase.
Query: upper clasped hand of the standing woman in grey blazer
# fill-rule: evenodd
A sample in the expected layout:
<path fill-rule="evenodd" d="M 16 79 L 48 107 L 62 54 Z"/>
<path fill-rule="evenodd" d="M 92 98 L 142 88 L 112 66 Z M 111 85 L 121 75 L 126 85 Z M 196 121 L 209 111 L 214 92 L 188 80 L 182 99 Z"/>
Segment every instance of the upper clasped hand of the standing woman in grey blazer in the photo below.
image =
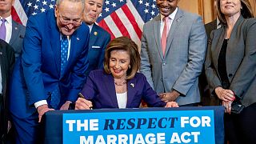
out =
<path fill-rule="evenodd" d="M 235 99 L 234 92 L 232 90 L 223 89 L 221 86 L 215 88 L 215 93 L 218 98 L 224 102 L 233 102 Z"/>

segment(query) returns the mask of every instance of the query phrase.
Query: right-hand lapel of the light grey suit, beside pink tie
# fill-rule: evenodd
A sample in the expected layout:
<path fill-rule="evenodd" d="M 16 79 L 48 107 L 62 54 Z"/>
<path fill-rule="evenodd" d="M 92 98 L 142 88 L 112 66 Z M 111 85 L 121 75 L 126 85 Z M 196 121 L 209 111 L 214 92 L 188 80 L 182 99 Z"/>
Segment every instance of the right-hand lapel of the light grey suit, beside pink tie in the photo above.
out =
<path fill-rule="evenodd" d="M 177 14 L 175 15 L 175 18 L 170 26 L 170 31 L 168 33 L 165 58 L 166 58 L 166 54 L 170 50 L 171 42 L 173 42 L 175 33 L 178 30 L 178 26 L 180 26 L 182 19 L 183 19 L 183 12 L 182 10 L 178 9 Z"/>

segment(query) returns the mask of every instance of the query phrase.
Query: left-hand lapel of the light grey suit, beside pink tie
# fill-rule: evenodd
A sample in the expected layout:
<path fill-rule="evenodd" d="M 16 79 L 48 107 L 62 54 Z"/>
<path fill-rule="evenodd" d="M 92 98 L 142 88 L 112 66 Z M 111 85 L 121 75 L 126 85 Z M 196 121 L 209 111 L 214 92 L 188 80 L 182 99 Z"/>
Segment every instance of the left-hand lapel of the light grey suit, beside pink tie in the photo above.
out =
<path fill-rule="evenodd" d="M 160 21 L 161 21 L 161 16 L 158 14 L 158 16 L 154 19 L 154 39 L 158 47 L 158 53 L 160 54 L 160 58 L 163 59 L 163 54 L 162 54 L 162 46 L 161 46 L 161 35 L 160 35 Z"/>

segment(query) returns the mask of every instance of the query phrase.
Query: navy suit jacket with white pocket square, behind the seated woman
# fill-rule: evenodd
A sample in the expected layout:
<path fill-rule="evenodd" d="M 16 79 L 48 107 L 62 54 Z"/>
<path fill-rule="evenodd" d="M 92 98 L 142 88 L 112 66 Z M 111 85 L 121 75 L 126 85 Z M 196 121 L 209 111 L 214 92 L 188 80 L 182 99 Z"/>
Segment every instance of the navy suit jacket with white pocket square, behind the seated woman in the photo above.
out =
<path fill-rule="evenodd" d="M 89 66 L 86 70 L 86 76 L 91 70 L 103 68 L 105 49 L 110 42 L 110 34 L 102 27 L 94 24 L 90 32 L 88 61 Z"/>

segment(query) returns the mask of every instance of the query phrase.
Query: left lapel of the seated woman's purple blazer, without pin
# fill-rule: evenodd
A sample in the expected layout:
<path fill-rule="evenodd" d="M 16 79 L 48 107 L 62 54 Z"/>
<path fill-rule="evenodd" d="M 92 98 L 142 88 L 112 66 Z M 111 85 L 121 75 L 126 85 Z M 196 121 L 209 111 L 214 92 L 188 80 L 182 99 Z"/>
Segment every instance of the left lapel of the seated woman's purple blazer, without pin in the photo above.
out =
<path fill-rule="evenodd" d="M 114 88 L 114 77 L 111 74 L 106 74 L 102 82 L 105 83 L 106 90 L 107 90 L 107 96 L 110 97 L 113 107 L 119 107 L 118 106 L 118 99 L 117 94 L 115 93 Z"/>

